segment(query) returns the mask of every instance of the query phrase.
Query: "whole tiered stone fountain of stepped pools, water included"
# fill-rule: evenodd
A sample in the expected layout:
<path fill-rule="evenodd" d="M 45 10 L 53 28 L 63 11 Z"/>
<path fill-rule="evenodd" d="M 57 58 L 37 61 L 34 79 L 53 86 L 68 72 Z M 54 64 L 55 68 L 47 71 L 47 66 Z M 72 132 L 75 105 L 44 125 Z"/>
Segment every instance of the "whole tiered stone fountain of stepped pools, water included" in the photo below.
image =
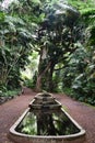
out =
<path fill-rule="evenodd" d="M 69 143 L 84 140 L 85 130 L 68 114 L 51 94 L 37 94 L 10 129 L 17 143 Z"/>

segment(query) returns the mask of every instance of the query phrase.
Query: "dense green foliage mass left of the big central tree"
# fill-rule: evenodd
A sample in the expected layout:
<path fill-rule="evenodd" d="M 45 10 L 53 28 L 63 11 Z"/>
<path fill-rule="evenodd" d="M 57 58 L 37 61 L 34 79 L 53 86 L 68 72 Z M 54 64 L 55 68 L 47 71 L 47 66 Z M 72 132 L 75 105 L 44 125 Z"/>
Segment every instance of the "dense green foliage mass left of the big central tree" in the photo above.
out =
<path fill-rule="evenodd" d="M 24 6 L 23 11 L 21 6 Z M 23 16 L 25 8 L 28 7 L 25 6 L 24 2 L 13 2 L 8 10 L 3 9 L 0 12 L 0 88 L 20 87 L 22 80 L 20 72 L 28 64 L 28 55 L 34 47 L 34 31 L 37 24 L 29 21 L 29 9 Z"/>

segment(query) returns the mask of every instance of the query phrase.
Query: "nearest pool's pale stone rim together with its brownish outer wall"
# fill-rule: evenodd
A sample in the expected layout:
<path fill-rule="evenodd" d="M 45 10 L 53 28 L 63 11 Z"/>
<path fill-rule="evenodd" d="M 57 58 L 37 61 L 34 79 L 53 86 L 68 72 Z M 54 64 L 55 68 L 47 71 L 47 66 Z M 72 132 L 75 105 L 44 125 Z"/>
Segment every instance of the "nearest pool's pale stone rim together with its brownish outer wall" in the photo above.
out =
<path fill-rule="evenodd" d="M 69 135 L 29 135 L 29 134 L 17 132 L 16 128 L 23 121 L 23 119 L 26 117 L 29 110 L 31 108 L 28 107 L 10 129 L 9 136 L 14 142 L 17 142 L 17 143 L 71 143 L 71 141 L 75 140 L 76 143 L 81 143 L 82 140 L 85 140 L 85 136 L 84 136 L 85 130 L 74 119 L 72 119 L 72 117 L 62 108 L 61 108 L 61 111 L 76 127 L 76 129 L 79 130 L 78 133 L 69 134 Z"/>

